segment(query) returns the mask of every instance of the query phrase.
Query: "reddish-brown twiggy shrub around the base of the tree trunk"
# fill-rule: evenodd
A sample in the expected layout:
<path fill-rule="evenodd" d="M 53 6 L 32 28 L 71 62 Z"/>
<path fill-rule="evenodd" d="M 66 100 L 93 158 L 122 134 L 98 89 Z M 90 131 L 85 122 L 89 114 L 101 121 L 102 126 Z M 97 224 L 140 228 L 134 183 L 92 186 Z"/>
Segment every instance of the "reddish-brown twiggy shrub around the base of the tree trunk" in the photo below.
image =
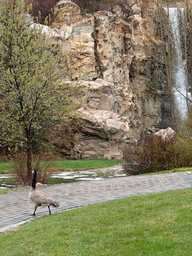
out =
<path fill-rule="evenodd" d="M 46 183 L 53 173 L 52 167 L 52 154 L 41 152 L 38 155 L 32 155 L 32 169 L 36 169 L 37 171 L 37 180 L 36 182 L 40 182 L 42 184 Z M 15 180 L 24 185 L 31 185 L 32 182 L 32 172 L 30 178 L 28 179 L 27 174 L 27 153 L 21 152 L 16 153 L 12 156 L 12 169 L 13 173 L 15 173 Z M 28 180 L 30 180 L 28 182 Z"/>

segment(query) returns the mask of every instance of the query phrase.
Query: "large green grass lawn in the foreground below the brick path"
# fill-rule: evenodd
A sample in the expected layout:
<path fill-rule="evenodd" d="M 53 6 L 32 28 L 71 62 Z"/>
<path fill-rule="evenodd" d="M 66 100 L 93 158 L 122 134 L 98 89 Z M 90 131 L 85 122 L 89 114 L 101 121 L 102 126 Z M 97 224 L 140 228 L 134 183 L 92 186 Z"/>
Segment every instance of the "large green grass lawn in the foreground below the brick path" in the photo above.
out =
<path fill-rule="evenodd" d="M 33 219 L 0 234 L 3 256 L 192 255 L 192 189 L 127 197 Z"/>

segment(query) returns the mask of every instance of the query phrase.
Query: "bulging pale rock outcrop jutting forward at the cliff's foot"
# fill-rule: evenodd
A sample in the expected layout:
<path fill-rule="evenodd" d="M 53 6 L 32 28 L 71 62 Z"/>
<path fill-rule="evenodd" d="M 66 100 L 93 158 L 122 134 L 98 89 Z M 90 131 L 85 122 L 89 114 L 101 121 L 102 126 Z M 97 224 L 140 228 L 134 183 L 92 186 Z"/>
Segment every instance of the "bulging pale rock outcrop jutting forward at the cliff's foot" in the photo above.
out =
<path fill-rule="evenodd" d="M 70 154 L 75 158 L 122 157 L 122 141 L 129 131 L 128 123 L 114 111 L 116 88 L 102 79 L 84 81 L 88 97 L 82 112 L 82 134 Z"/>

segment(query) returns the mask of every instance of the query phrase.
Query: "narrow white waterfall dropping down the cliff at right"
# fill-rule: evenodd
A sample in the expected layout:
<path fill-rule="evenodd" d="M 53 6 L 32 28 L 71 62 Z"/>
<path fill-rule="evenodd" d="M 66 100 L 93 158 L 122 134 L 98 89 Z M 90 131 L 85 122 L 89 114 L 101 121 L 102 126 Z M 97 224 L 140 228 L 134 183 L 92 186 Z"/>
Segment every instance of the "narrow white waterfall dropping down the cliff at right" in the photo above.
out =
<path fill-rule="evenodd" d="M 181 15 L 179 15 L 179 13 Z M 172 57 L 174 62 L 173 78 L 173 95 L 174 95 L 174 111 L 176 115 L 184 117 L 187 114 L 187 97 L 191 97 L 187 92 L 187 77 L 186 77 L 186 59 L 182 54 L 181 34 L 180 29 L 182 19 L 184 19 L 184 8 L 169 7 L 169 22 L 172 28 L 172 45 L 174 46 L 174 55 Z M 183 29 L 184 31 L 184 29 Z"/>

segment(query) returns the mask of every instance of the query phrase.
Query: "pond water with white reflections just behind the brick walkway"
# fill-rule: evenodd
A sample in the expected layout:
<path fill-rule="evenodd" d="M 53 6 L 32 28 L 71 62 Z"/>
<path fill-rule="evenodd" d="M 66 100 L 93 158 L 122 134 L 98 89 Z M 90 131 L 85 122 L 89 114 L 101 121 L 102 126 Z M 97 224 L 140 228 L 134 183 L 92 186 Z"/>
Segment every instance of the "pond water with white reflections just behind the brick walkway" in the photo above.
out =
<path fill-rule="evenodd" d="M 105 178 L 116 178 L 126 176 L 123 173 L 122 166 L 114 166 L 111 168 L 102 168 L 100 170 L 79 170 L 69 172 L 59 172 L 50 176 L 48 184 L 70 183 L 85 180 L 100 180 Z M 11 176 L 0 176 L 0 188 L 14 187 L 18 185 Z"/>

